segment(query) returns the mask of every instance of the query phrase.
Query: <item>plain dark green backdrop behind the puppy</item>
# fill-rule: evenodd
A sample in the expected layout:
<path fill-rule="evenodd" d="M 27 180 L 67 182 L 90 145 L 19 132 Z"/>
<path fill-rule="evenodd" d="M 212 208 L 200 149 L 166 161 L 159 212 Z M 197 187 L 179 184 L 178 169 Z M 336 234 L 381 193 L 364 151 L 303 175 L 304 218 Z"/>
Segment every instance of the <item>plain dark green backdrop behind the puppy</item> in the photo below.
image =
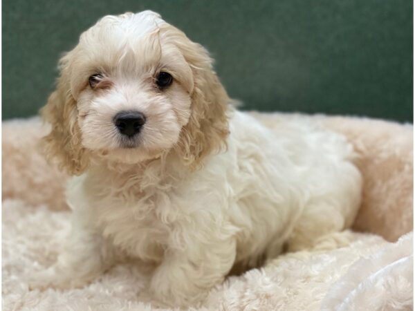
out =
<path fill-rule="evenodd" d="M 98 18 L 145 9 L 210 50 L 244 109 L 412 121 L 412 0 L 3 0 L 3 119 L 37 113 Z"/>

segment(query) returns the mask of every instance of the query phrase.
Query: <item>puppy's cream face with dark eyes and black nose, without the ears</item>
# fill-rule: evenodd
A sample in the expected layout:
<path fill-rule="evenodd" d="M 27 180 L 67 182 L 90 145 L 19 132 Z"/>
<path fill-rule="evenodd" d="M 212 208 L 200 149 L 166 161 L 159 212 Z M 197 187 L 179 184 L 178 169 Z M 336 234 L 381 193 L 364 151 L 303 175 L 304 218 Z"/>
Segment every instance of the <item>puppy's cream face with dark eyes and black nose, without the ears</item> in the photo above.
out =
<path fill-rule="evenodd" d="M 148 13 L 104 17 L 80 38 L 71 81 L 87 149 L 138 161 L 178 142 L 194 81 L 163 23 Z"/>

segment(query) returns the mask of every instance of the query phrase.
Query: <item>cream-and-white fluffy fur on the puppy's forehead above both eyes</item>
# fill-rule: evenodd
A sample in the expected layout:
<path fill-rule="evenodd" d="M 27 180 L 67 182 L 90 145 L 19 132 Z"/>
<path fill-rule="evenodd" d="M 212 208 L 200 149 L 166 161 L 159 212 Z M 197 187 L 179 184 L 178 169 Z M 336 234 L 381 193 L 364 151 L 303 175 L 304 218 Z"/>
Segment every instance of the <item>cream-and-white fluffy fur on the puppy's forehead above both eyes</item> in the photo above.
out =
<path fill-rule="evenodd" d="M 88 77 L 97 72 L 137 80 L 166 70 L 192 93 L 192 70 L 176 46 L 176 37 L 185 36 L 151 11 L 103 17 L 82 34 L 71 52 L 75 100 Z"/>

